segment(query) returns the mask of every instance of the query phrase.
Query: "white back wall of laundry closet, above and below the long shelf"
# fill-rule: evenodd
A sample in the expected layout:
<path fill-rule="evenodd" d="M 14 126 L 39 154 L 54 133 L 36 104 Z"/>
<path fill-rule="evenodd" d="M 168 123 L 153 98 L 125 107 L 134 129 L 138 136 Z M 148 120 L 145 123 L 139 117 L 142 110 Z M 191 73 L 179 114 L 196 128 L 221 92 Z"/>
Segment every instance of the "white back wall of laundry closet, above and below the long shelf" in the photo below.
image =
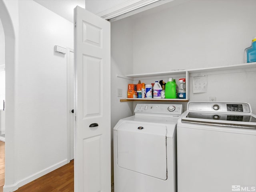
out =
<path fill-rule="evenodd" d="M 244 49 L 256 36 L 256 1 L 173 3 L 164 4 L 162 10 L 158 7 L 130 17 L 133 33 L 131 74 L 244 62 Z M 190 84 L 190 101 L 208 101 L 209 97 L 216 97 L 217 101 L 249 102 L 256 114 L 255 80 L 255 70 L 208 73 L 208 92 L 193 94 Z M 186 109 L 186 103 L 182 104 Z"/>

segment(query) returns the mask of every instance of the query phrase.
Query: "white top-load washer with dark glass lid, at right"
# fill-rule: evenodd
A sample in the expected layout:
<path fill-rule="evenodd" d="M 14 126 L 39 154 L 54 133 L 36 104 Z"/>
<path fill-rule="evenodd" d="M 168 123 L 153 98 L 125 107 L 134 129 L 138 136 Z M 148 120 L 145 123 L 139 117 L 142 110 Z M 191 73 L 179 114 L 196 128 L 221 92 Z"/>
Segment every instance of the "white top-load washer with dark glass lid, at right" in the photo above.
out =
<path fill-rule="evenodd" d="M 256 116 L 250 104 L 189 102 L 177 125 L 178 192 L 256 190 Z"/>

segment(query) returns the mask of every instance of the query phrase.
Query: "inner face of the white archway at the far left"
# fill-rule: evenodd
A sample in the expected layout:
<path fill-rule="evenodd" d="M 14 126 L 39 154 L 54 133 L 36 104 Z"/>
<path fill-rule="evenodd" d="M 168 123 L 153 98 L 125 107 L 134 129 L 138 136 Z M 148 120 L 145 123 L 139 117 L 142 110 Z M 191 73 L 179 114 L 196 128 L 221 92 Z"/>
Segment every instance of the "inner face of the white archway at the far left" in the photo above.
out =
<path fill-rule="evenodd" d="M 6 154 L 5 154 L 5 186 L 4 191 L 14 191 L 14 129 L 15 129 L 15 32 L 12 19 L 3 0 L 0 0 L 0 19 L 5 36 L 6 65 Z M 9 186 L 9 187 L 8 187 Z M 15 187 L 14 187 L 15 188 Z"/>

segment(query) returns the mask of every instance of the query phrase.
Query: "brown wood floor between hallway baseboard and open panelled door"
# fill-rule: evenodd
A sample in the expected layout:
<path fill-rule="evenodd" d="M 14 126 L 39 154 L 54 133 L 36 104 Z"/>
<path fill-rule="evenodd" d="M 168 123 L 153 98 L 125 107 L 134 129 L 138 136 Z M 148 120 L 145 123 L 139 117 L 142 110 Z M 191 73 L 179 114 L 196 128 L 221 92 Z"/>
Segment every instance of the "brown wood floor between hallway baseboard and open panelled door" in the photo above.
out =
<path fill-rule="evenodd" d="M 74 160 L 15 192 L 74 192 Z"/>

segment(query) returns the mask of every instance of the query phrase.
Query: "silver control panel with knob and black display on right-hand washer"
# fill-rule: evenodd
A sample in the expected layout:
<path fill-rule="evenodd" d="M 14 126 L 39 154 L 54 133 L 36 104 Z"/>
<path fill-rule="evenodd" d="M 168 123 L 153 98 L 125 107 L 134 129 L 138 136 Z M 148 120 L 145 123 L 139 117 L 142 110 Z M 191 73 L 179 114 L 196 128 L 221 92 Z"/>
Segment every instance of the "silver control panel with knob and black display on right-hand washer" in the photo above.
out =
<path fill-rule="evenodd" d="M 240 102 L 189 102 L 188 110 L 202 112 L 251 113 L 248 103 Z"/>

